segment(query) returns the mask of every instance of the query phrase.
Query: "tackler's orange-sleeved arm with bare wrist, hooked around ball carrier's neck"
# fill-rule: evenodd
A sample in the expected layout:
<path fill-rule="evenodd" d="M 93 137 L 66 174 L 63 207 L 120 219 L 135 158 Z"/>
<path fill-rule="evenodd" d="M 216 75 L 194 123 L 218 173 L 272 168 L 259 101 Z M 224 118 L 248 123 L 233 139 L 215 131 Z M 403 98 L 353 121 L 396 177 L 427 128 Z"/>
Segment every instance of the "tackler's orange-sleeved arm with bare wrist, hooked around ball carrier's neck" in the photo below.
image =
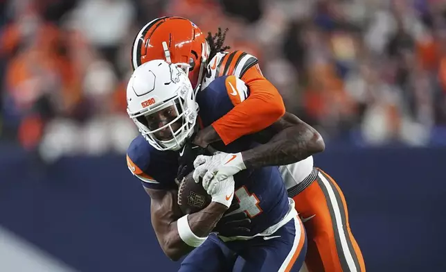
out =
<path fill-rule="evenodd" d="M 262 76 L 256 63 L 253 62 L 253 66 L 241 77 L 249 87 L 247 99 L 233 100 L 234 108 L 211 126 L 200 130 L 194 144 L 206 147 L 220 140 L 224 144 L 230 144 L 244 135 L 267 128 L 283 116 L 285 105 L 282 96 L 276 87 Z"/>

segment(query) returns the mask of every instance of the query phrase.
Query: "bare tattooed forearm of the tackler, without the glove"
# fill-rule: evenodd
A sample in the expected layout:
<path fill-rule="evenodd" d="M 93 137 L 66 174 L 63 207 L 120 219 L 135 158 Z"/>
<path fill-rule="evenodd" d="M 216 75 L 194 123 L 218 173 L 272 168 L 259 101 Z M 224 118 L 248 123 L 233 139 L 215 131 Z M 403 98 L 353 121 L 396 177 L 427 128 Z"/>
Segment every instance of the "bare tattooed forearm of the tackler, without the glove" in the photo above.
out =
<path fill-rule="evenodd" d="M 319 133 L 288 112 L 276 123 L 257 135 L 265 143 L 242 152 L 247 168 L 287 165 L 304 160 L 325 148 Z"/>

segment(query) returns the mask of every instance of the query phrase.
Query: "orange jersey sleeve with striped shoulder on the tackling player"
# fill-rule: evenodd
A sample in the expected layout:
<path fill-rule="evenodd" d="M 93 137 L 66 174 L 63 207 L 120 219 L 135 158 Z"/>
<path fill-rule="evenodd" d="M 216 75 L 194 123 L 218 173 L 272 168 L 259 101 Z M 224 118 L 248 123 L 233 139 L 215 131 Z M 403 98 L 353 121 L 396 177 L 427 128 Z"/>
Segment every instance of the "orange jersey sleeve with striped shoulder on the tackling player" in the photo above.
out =
<path fill-rule="evenodd" d="M 235 51 L 222 59 L 220 73 L 224 74 L 225 71 L 228 74 L 232 72 L 235 77 L 246 83 L 249 96 L 243 100 L 231 99 L 234 108 L 213 122 L 212 126 L 224 144 L 230 144 L 244 135 L 257 133 L 285 114 L 282 96 L 262 75 L 257 58 L 242 51 Z M 231 86 L 229 87 L 228 90 L 231 90 Z M 229 96 L 231 97 L 231 94 Z"/>

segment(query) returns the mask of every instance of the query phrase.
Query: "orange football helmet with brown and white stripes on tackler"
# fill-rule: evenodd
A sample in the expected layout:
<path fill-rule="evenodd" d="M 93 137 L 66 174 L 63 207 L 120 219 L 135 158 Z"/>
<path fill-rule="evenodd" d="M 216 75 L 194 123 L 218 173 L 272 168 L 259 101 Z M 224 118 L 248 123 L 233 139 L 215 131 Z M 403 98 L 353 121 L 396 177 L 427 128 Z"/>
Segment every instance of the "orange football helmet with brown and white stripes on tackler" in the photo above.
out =
<path fill-rule="evenodd" d="M 150 60 L 166 60 L 183 69 L 193 88 L 202 82 L 211 49 L 204 33 L 188 19 L 167 16 L 149 22 L 136 35 L 132 68 Z"/>

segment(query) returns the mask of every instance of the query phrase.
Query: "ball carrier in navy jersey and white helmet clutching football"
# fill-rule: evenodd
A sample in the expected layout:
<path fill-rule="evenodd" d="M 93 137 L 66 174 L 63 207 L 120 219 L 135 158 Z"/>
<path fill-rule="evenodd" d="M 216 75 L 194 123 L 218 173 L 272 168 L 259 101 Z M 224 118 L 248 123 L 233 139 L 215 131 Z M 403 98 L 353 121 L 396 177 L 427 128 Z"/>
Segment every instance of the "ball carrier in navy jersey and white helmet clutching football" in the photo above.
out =
<path fill-rule="evenodd" d="M 181 148 L 197 123 L 208 126 L 233 108 L 233 92 L 239 99 L 248 95 L 234 76 L 217 78 L 196 93 L 176 65 L 152 60 L 138 67 L 127 85 L 127 112 L 141 136 L 130 144 L 127 164 L 150 195 L 152 226 L 164 253 L 178 260 L 192 250 L 179 271 L 298 271 L 305 258 L 305 230 L 277 167 L 243 169 L 203 184 L 211 204 L 194 214 L 179 211 L 175 180 Z M 214 147 L 235 153 L 257 145 L 247 136 Z M 234 195 L 240 208 L 228 213 Z M 249 216 L 248 232 L 213 234 L 222 216 L 239 212 Z"/>

